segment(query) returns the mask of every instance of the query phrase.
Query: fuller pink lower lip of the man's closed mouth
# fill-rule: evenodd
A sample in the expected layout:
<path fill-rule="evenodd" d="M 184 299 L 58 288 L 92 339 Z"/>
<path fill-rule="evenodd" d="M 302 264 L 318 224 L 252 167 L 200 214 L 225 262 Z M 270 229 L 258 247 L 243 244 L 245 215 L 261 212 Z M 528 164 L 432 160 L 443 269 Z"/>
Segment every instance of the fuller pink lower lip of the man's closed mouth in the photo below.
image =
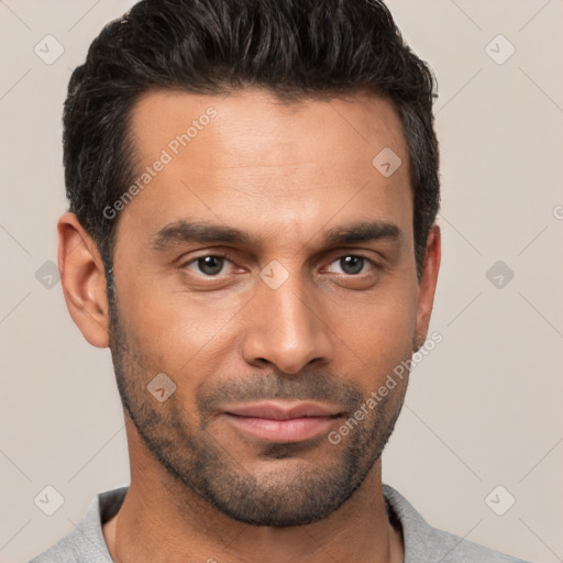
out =
<path fill-rule="evenodd" d="M 301 442 L 322 432 L 327 432 L 334 423 L 334 417 L 302 417 L 288 420 L 274 420 L 269 418 L 240 417 L 227 415 L 236 428 L 267 440 L 269 442 Z"/>

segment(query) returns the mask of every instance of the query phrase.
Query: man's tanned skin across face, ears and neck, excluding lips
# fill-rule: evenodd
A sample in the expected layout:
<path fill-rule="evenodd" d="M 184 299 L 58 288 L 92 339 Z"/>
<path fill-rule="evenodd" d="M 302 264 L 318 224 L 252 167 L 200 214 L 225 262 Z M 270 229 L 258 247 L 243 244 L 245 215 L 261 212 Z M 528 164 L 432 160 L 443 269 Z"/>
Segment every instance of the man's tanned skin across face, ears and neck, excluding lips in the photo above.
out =
<path fill-rule="evenodd" d="M 177 155 L 167 148 L 210 107 L 209 124 Z M 224 415 L 232 404 L 300 399 L 336 411 L 336 430 L 424 341 L 440 231 L 432 228 L 418 280 L 393 106 L 361 93 L 283 104 L 258 89 L 156 91 L 135 106 L 133 133 L 140 173 L 163 150 L 173 157 L 119 216 L 113 307 L 95 242 L 74 214 L 58 223 L 68 309 L 88 342 L 111 347 L 124 405 L 131 486 L 103 529 L 112 558 L 402 561 L 379 455 L 407 378 L 336 445 L 328 432 L 266 442 Z M 402 159 L 390 177 L 372 165 L 384 147 Z M 170 235 L 183 221 L 251 240 Z M 374 221 L 398 235 L 325 240 Z M 225 260 L 221 269 L 211 258 L 214 275 L 196 260 L 217 255 Z M 346 256 L 366 260 L 350 268 Z M 287 275 L 276 289 L 260 276 L 272 261 Z M 147 390 L 159 373 L 176 385 L 163 402 Z"/>

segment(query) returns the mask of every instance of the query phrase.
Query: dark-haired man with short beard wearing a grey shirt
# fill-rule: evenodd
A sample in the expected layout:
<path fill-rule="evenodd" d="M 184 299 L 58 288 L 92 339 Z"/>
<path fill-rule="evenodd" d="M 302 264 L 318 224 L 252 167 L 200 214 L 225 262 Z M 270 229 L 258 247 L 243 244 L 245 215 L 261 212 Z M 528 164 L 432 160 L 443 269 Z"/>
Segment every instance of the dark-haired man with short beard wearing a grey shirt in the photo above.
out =
<path fill-rule="evenodd" d="M 375 0 L 104 27 L 65 104 L 58 260 L 131 485 L 34 562 L 517 561 L 382 484 L 440 266 L 433 86 Z"/>

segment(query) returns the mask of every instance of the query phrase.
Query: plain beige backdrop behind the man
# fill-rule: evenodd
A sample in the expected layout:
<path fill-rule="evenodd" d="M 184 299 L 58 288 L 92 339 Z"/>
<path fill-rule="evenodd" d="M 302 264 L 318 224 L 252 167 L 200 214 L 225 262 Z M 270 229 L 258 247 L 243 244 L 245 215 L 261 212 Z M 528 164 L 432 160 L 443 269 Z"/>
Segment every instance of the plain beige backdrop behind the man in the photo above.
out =
<path fill-rule="evenodd" d="M 443 342 L 413 373 L 385 481 L 434 526 L 562 561 L 563 1 L 389 4 L 438 76 L 444 253 L 431 327 Z M 70 531 L 96 493 L 129 479 L 109 352 L 82 340 L 56 278 L 44 286 L 66 206 L 70 69 L 129 5 L 0 1 L 2 562 L 27 561 Z M 52 65 L 34 53 L 47 34 L 65 49 Z M 486 51 L 499 34 L 516 48 L 504 64 L 487 51 L 498 60 L 508 43 Z M 503 288 L 486 277 L 497 261 L 515 273 Z M 34 504 L 47 485 L 64 497 L 51 517 Z M 504 516 L 485 503 L 497 485 L 508 493 L 493 496 L 496 507 L 516 498 Z"/>

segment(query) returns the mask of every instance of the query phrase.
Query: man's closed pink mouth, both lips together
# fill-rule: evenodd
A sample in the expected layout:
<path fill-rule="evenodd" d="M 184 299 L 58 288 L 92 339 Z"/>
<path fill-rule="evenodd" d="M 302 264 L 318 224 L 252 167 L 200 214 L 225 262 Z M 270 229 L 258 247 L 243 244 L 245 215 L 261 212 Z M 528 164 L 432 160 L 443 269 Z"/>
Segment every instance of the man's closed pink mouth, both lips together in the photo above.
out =
<path fill-rule="evenodd" d="M 227 420 L 268 442 L 301 442 L 327 432 L 342 411 L 316 402 L 267 401 L 225 408 Z"/>

